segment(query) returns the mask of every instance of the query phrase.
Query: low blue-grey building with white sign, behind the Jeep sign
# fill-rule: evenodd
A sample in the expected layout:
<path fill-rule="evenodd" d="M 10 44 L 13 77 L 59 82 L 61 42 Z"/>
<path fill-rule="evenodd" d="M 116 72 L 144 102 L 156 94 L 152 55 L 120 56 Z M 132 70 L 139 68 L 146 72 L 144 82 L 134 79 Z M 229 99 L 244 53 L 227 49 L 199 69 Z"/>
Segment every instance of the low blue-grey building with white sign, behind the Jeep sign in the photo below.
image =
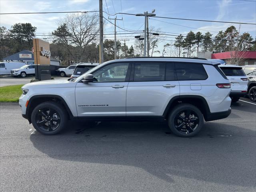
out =
<path fill-rule="evenodd" d="M 4 62 L 26 62 L 28 65 L 34 64 L 34 54 L 32 51 L 23 50 L 2 59 Z M 50 58 L 50 65 L 60 66 L 60 62 L 54 58 Z"/>

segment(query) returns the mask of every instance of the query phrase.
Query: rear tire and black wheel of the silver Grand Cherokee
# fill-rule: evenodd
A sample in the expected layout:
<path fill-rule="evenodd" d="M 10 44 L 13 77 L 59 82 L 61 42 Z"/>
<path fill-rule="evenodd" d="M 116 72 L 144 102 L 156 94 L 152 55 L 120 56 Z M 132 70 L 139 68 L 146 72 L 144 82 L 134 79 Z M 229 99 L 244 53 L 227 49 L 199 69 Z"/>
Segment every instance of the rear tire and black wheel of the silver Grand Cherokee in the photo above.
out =
<path fill-rule="evenodd" d="M 180 137 L 192 137 L 198 134 L 203 124 L 202 112 L 191 104 L 178 104 L 172 109 L 168 117 L 170 130 Z"/>

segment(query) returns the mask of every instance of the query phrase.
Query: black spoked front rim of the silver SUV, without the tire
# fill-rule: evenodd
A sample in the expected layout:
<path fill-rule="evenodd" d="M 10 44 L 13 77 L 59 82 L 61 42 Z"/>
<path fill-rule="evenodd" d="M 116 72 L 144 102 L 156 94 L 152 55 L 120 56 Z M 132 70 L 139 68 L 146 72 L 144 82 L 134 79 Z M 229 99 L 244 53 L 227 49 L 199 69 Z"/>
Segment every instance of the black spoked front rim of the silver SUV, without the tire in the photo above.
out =
<path fill-rule="evenodd" d="M 53 131 L 60 126 L 60 115 L 51 108 L 42 108 L 36 113 L 36 124 L 43 131 Z"/>

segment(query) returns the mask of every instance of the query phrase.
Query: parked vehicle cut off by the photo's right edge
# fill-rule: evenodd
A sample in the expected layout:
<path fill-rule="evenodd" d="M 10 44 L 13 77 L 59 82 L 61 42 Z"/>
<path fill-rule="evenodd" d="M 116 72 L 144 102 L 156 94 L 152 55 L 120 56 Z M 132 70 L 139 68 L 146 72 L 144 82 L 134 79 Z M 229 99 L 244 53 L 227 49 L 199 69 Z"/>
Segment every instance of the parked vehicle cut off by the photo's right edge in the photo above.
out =
<path fill-rule="evenodd" d="M 256 65 L 242 66 L 244 73 L 248 79 L 247 94 L 250 100 L 256 102 Z"/>

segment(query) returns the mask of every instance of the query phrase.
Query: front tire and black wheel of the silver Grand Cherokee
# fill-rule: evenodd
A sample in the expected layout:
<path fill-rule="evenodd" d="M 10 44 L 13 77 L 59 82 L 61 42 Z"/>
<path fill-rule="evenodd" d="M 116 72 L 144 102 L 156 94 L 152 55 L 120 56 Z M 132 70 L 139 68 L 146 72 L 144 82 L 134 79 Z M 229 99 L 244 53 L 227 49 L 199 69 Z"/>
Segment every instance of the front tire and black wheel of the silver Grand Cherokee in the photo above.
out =
<path fill-rule="evenodd" d="M 67 119 L 66 109 L 57 102 L 43 102 L 31 114 L 34 128 L 44 135 L 55 135 L 64 130 Z"/>

